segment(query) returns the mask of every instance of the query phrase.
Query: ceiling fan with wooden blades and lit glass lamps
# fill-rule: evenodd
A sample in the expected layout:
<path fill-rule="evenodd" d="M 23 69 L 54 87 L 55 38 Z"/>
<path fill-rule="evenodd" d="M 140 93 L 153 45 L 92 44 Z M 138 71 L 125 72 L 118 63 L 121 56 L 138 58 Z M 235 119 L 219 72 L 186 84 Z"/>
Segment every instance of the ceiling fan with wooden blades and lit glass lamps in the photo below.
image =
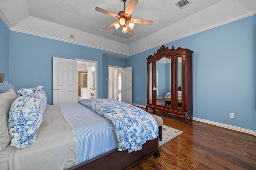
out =
<path fill-rule="evenodd" d="M 122 0 L 124 2 L 124 7 L 125 7 L 125 2 L 126 0 Z M 141 20 L 141 19 L 136 19 L 136 18 L 131 18 L 131 13 L 134 10 L 135 6 L 138 4 L 138 0 L 130 0 L 128 3 L 128 6 L 126 10 L 124 9 L 123 11 L 118 12 L 118 15 L 109 12 L 107 10 L 104 10 L 102 8 L 96 7 L 95 10 L 102 12 L 104 14 L 107 14 L 109 16 L 118 18 L 119 21 L 116 21 L 114 23 L 111 23 L 110 25 L 104 27 L 104 30 L 108 30 L 112 27 L 116 27 L 118 29 L 120 25 L 123 25 L 123 32 L 126 33 L 128 32 L 129 34 L 133 34 L 134 32 L 132 31 L 134 27 L 134 23 L 140 23 L 140 24 L 145 24 L 145 25 L 152 25 L 153 21 L 150 20 Z"/>

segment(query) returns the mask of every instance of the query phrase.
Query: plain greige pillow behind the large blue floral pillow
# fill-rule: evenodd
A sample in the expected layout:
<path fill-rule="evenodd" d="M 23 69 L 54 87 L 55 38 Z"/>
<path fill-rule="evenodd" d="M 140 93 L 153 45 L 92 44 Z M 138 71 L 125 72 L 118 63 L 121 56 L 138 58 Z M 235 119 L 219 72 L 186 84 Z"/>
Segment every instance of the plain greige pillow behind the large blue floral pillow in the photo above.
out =
<path fill-rule="evenodd" d="M 10 144 L 12 139 L 8 131 L 8 115 L 12 102 L 16 98 L 18 96 L 12 89 L 0 94 L 0 152 Z"/>

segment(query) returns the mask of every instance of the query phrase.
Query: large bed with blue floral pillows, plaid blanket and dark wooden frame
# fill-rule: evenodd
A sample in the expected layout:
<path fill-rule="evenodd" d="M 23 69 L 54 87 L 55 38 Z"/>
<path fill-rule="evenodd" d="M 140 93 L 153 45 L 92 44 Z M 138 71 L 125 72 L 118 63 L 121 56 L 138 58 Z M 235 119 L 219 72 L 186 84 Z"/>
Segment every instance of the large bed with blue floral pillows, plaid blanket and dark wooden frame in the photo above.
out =
<path fill-rule="evenodd" d="M 45 93 L 42 90 L 42 86 L 27 91 L 23 90 L 19 98 L 28 95 L 29 92 L 29 95 L 32 95 L 33 92 L 41 92 L 42 94 L 39 93 L 37 96 L 33 95 L 39 99 L 44 98 Z M 12 119 L 10 117 L 16 114 L 11 110 L 13 107 L 17 108 L 21 105 L 14 104 L 18 100 L 18 96 L 15 95 L 16 93 L 12 89 L 0 94 L 0 106 L 11 104 L 9 117 L 5 117 L 5 120 L 2 119 L 0 124 L 6 119 L 9 119 L 7 122 L 10 123 L 10 119 Z M 32 100 L 34 102 L 38 99 L 33 98 Z M 33 103 L 31 102 L 32 100 L 28 103 Z M 23 103 L 26 103 L 24 101 Z M 120 107 L 116 107 L 116 104 Z M 132 168 L 152 154 L 156 157 L 160 156 L 157 123 L 148 113 L 143 115 L 144 110 L 138 109 L 136 106 L 127 105 L 116 100 L 85 99 L 79 103 L 63 105 L 47 105 L 42 102 L 37 109 L 44 108 L 44 105 L 44 113 L 36 116 L 36 119 L 42 118 L 42 121 L 38 127 L 34 128 L 36 129 L 34 136 L 29 134 L 32 137 L 27 141 L 22 139 L 21 141 L 26 141 L 23 143 L 17 142 L 17 140 L 13 141 L 13 138 L 11 138 L 11 142 L 7 146 L 1 146 L 2 144 L 0 144 L 1 169 L 118 170 Z M 3 110 L 4 107 L 0 108 L 2 117 L 4 111 L 6 112 L 8 108 L 5 108 L 5 110 Z M 24 106 L 22 109 L 24 109 Z M 31 107 L 26 109 L 31 109 Z M 116 113 L 110 111 L 111 109 L 116 112 L 119 111 L 121 114 L 119 115 L 118 113 L 116 115 Z M 130 112 L 131 110 L 133 112 Z M 140 130 L 145 129 L 146 127 L 144 126 L 146 125 L 135 119 L 135 117 L 138 117 L 137 113 L 151 127 L 151 130 L 148 130 L 150 133 L 144 133 L 145 130 L 140 131 L 143 135 L 139 137 L 135 133 L 138 129 L 127 131 L 127 127 L 131 125 L 121 125 L 122 123 L 120 123 L 120 120 L 126 119 L 126 121 L 133 122 L 132 127 L 138 125 Z M 31 113 L 31 115 L 33 114 L 34 112 Z M 119 121 L 116 121 L 116 119 Z M 33 123 L 26 121 L 26 124 L 32 125 Z M 7 124 L 5 125 L 8 126 Z M 7 128 L 10 131 L 14 127 L 9 125 Z M 124 129 L 128 135 L 124 135 L 122 132 Z M 0 137 L 1 133 L 2 127 Z M 14 131 L 10 133 L 10 136 L 14 136 Z M 32 143 L 30 143 L 31 141 Z"/>

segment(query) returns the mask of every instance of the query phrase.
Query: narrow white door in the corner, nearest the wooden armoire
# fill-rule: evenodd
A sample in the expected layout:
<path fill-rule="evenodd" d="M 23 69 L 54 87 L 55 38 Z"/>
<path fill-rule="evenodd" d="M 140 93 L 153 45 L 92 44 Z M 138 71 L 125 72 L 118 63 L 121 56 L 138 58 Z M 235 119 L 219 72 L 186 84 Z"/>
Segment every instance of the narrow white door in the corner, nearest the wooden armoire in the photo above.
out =
<path fill-rule="evenodd" d="M 122 68 L 121 101 L 132 104 L 132 67 Z"/>

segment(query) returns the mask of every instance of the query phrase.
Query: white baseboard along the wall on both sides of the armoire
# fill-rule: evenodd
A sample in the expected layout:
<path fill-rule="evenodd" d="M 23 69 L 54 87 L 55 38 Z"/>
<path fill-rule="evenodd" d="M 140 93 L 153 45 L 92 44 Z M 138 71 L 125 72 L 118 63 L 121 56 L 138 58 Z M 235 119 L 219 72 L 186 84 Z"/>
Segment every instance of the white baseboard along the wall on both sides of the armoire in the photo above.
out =
<path fill-rule="evenodd" d="M 140 105 L 140 104 L 132 104 L 134 106 L 138 106 L 138 107 L 142 107 L 142 108 L 146 108 L 146 106 L 143 106 L 143 105 Z M 244 129 L 242 127 L 237 127 L 237 126 L 232 126 L 232 125 L 226 125 L 226 124 L 223 124 L 223 123 L 218 123 L 218 122 L 215 122 L 215 121 L 210 121 L 210 120 L 205 120 L 205 119 L 200 119 L 200 118 L 197 118 L 197 117 L 193 117 L 193 120 L 194 121 L 200 121 L 202 123 L 207 123 L 207 124 L 210 124 L 210 125 L 215 125 L 215 126 L 219 126 L 219 127 L 224 127 L 226 129 L 230 129 L 230 130 L 234 130 L 234 131 L 239 131 L 239 132 L 242 132 L 242 133 L 248 133 L 250 135 L 254 135 L 256 136 L 256 131 L 253 131 L 253 130 L 250 130 L 250 129 Z"/>

